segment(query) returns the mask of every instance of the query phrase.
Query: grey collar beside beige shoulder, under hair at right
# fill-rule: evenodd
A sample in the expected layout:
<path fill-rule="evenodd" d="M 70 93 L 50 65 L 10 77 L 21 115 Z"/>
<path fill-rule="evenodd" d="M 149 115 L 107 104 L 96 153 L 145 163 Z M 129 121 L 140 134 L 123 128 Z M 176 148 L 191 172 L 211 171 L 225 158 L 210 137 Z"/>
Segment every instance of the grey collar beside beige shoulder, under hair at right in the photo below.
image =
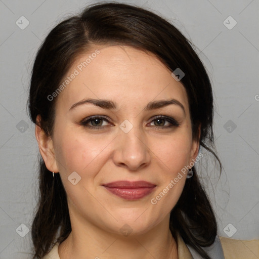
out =
<path fill-rule="evenodd" d="M 190 245 L 186 244 L 190 253 L 192 254 L 193 259 L 202 259 L 201 255 L 199 255 Z M 213 259 L 225 259 L 221 241 L 219 236 L 217 235 L 215 241 L 212 245 L 202 247 L 207 254 Z"/>

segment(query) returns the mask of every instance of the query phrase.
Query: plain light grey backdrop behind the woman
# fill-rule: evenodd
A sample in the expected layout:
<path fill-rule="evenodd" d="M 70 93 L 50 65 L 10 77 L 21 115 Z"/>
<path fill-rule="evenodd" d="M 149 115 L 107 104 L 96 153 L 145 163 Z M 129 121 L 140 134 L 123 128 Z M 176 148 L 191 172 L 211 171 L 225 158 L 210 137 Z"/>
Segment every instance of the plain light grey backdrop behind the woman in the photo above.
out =
<path fill-rule="evenodd" d="M 30 258 L 26 254 L 31 244 L 30 232 L 25 237 L 18 233 L 19 229 L 20 233 L 25 231 L 21 224 L 30 229 L 36 205 L 38 147 L 34 125 L 26 113 L 33 59 L 50 29 L 89 3 L 95 1 L 0 0 L 0 259 Z M 206 179 L 204 167 L 201 168 L 217 212 L 219 234 L 235 239 L 258 239 L 258 0 L 124 3 L 156 11 L 174 22 L 197 46 L 212 80 L 217 103 L 215 138 L 224 166 L 220 181 L 212 161 L 207 170 L 210 181 Z M 16 25 L 21 16 L 29 21 L 24 30 Z M 237 21 L 232 29 L 223 23 L 229 16 Z M 231 20 L 226 22 L 233 25 Z"/>

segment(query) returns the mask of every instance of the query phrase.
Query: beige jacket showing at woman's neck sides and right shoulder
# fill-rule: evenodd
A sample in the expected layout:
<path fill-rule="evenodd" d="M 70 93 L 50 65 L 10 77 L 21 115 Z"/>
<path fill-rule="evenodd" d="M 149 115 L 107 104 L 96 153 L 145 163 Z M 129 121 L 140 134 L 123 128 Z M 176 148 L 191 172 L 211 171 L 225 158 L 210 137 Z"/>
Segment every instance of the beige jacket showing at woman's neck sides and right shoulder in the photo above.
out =
<path fill-rule="evenodd" d="M 190 250 L 180 235 L 178 240 L 178 259 L 193 259 Z M 258 259 L 259 240 L 250 241 L 220 237 L 225 259 Z M 58 254 L 58 243 L 42 259 L 60 259 Z"/>

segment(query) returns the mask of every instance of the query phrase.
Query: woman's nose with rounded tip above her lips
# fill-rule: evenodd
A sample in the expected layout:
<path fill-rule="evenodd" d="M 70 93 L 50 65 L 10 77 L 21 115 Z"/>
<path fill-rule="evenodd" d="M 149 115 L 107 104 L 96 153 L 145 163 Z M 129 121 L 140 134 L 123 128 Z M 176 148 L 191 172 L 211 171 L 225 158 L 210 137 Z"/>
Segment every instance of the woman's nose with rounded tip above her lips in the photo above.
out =
<path fill-rule="evenodd" d="M 147 166 L 151 161 L 151 151 L 144 133 L 137 127 L 128 133 L 120 131 L 116 138 L 113 161 L 117 166 L 131 171 Z"/>

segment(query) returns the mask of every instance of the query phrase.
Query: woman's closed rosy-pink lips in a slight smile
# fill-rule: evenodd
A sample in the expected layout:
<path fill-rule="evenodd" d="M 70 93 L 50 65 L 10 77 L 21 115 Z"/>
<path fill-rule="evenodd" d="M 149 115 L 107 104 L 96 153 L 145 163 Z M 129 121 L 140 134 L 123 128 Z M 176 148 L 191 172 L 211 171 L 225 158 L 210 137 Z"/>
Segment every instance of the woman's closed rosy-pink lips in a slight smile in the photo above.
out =
<path fill-rule="evenodd" d="M 103 186 L 112 194 L 126 200 L 141 199 L 153 192 L 156 187 L 156 185 L 146 181 L 117 181 L 103 184 Z"/>

